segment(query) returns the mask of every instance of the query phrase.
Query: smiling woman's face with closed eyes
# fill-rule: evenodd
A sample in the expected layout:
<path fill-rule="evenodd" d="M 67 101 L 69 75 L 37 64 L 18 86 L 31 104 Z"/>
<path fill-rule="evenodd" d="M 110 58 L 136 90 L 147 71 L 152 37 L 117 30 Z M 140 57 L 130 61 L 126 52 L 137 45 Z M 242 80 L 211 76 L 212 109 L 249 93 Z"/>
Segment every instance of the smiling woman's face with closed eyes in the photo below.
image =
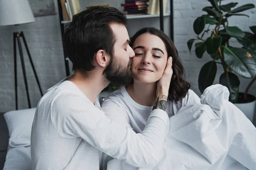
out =
<path fill-rule="evenodd" d="M 134 80 L 143 83 L 157 82 L 167 63 L 167 51 L 163 41 L 152 34 L 141 34 L 132 46 L 135 57 L 131 64 Z"/>

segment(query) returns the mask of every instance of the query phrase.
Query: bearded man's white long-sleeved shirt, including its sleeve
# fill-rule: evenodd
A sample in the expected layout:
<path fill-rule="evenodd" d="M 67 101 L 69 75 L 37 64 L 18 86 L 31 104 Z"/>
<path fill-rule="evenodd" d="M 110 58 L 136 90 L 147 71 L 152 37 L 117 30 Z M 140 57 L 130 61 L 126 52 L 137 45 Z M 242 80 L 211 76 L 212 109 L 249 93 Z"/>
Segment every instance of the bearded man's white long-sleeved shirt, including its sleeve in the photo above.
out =
<path fill-rule="evenodd" d="M 152 111 L 142 134 L 105 116 L 73 82 L 53 86 L 41 98 L 31 133 L 33 170 L 99 170 L 102 152 L 134 166 L 157 163 L 169 130 L 166 112 Z M 102 152 L 100 152 L 102 151 Z"/>

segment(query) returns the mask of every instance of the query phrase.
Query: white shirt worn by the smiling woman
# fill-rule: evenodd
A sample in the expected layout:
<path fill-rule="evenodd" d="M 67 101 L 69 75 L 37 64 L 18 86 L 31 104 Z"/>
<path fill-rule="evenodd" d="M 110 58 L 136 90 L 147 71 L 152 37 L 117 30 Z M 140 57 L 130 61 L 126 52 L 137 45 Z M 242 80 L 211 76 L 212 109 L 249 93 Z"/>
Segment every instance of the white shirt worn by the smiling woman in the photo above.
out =
<path fill-rule="evenodd" d="M 168 116 L 171 117 L 175 115 L 180 108 L 195 103 L 200 103 L 200 98 L 194 91 L 189 89 L 186 96 L 180 101 L 167 101 Z M 122 125 L 132 128 L 136 133 L 142 133 L 152 108 L 153 106 L 144 106 L 135 102 L 128 94 L 125 87 L 114 91 L 102 102 L 102 110 L 105 112 L 106 116 Z M 106 167 L 108 161 L 111 159 L 113 158 L 103 154 L 103 166 Z"/>

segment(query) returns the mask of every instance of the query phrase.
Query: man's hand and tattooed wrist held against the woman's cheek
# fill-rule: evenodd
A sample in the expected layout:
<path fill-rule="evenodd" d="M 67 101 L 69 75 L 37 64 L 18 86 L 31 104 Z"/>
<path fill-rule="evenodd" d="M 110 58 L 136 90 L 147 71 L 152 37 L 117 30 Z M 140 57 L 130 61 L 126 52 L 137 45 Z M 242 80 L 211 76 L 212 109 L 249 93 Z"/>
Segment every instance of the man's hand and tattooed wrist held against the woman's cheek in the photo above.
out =
<path fill-rule="evenodd" d="M 169 57 L 163 76 L 157 82 L 157 96 L 152 110 L 162 109 L 163 111 L 166 111 L 172 73 L 172 57 Z"/>

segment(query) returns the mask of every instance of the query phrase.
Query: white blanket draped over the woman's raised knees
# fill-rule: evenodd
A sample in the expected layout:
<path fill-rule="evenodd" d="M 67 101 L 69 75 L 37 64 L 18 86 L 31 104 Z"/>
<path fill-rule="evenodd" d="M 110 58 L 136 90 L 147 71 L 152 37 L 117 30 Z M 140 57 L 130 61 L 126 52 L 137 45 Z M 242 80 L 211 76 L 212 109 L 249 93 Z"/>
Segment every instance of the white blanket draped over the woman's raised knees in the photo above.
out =
<path fill-rule="evenodd" d="M 256 170 L 256 128 L 222 85 L 170 117 L 163 154 L 151 170 Z M 148 148 L 152 149 L 152 148 Z M 113 159 L 108 170 L 144 170 Z"/>

